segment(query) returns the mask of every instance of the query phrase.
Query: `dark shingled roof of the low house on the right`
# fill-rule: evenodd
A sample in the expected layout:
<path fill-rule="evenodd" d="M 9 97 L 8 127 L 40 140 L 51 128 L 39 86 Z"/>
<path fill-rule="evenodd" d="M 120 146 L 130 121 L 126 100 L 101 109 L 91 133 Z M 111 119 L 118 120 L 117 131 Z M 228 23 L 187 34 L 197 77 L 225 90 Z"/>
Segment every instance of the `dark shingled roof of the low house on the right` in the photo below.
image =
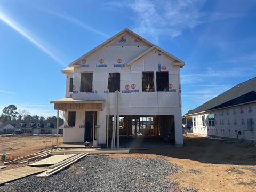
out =
<path fill-rule="evenodd" d="M 203 105 L 189 110 L 185 116 L 254 101 L 256 102 L 256 77 L 237 84 Z"/>

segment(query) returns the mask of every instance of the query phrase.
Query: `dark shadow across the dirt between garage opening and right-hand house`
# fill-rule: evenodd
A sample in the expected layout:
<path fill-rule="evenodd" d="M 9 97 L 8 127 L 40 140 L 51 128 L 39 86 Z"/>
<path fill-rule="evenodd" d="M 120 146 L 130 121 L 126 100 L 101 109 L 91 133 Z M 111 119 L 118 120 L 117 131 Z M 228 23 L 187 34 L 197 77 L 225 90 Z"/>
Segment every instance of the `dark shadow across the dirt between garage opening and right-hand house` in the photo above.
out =
<path fill-rule="evenodd" d="M 224 143 L 221 140 L 210 140 L 194 135 L 184 137 L 183 148 L 176 148 L 173 145 L 150 146 L 147 150 L 132 150 L 132 153 L 163 155 L 212 164 L 256 165 L 255 144 Z"/>

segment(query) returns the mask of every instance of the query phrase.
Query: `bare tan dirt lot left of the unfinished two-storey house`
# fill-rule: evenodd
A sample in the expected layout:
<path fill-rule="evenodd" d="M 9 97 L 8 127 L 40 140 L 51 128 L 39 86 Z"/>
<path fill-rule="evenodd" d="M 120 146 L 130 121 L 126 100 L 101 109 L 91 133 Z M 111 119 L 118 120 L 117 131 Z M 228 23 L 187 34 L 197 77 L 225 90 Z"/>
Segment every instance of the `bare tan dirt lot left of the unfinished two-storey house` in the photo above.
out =
<path fill-rule="evenodd" d="M 58 141 L 59 143 L 62 143 L 62 137 L 59 137 Z M 11 161 L 13 159 L 24 157 L 40 150 L 49 150 L 55 145 L 56 135 L 21 134 L 6 137 L 3 135 L 0 136 L 0 154 L 10 153 L 10 155 L 6 155 L 5 161 Z M 0 166 L 3 165 L 4 162 L 0 160 Z M 27 164 L 10 164 L 5 169 L 26 165 Z"/>

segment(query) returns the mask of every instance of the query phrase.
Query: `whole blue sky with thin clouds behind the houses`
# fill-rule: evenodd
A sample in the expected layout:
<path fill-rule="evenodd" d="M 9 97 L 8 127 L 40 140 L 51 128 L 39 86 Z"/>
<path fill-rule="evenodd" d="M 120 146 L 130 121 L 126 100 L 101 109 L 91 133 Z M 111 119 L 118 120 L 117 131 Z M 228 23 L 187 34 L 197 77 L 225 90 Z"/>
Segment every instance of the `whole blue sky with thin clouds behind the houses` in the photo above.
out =
<path fill-rule="evenodd" d="M 0 110 L 55 115 L 60 71 L 124 28 L 186 62 L 182 114 L 256 75 L 256 1 L 0 0 Z"/>

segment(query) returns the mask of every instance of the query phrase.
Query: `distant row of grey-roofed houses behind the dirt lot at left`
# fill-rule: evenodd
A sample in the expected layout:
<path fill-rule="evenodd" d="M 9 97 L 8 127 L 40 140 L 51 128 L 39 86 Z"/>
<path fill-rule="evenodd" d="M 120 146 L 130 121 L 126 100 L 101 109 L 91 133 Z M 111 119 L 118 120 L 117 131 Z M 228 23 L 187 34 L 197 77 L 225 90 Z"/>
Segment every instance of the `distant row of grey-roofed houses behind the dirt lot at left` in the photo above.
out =
<path fill-rule="evenodd" d="M 9 120 L 0 125 L 0 130 L 4 133 L 12 133 L 13 131 L 22 131 L 23 133 L 34 134 L 56 134 L 56 121 L 52 120 Z M 59 134 L 63 133 L 63 119 L 59 121 Z"/>

